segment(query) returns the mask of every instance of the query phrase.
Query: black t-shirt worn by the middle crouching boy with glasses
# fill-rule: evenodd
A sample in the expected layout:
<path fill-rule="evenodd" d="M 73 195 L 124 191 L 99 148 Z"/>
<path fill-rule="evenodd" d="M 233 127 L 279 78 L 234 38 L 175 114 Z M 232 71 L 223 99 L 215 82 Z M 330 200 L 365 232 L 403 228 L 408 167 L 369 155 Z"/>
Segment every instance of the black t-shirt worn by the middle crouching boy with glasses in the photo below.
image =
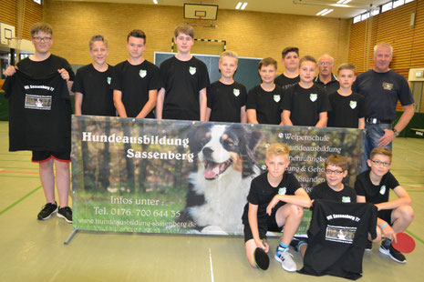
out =
<path fill-rule="evenodd" d="M 345 185 L 343 190 L 335 191 L 330 188 L 326 182 L 314 186 L 309 196 L 311 200 L 323 199 L 342 203 L 357 202 L 357 193 L 355 193 L 355 190 L 352 187 Z"/>

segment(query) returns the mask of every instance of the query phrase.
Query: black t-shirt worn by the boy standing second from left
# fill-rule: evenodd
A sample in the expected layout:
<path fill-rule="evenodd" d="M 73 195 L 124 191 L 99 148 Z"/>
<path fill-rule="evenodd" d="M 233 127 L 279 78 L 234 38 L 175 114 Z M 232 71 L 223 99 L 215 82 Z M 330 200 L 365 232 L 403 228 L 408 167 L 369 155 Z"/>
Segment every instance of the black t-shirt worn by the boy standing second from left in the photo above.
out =
<path fill-rule="evenodd" d="M 113 106 L 113 90 L 110 89 L 112 67 L 99 72 L 92 64 L 78 68 L 75 76 L 72 92 L 83 95 L 81 112 L 82 115 L 93 116 L 116 116 Z"/>

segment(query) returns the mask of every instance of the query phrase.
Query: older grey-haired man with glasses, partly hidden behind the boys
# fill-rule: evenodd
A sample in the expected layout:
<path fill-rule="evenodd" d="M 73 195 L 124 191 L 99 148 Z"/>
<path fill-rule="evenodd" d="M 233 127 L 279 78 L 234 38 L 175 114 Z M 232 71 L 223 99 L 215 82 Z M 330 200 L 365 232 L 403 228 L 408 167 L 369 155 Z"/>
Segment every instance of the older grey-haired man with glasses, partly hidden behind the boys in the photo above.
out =
<path fill-rule="evenodd" d="M 339 83 L 335 75 L 333 75 L 333 68 L 335 67 L 335 59 L 331 55 L 321 55 L 318 60 L 319 74 L 315 77 L 314 83 L 326 89 L 328 94 L 334 93 L 339 88 Z"/>

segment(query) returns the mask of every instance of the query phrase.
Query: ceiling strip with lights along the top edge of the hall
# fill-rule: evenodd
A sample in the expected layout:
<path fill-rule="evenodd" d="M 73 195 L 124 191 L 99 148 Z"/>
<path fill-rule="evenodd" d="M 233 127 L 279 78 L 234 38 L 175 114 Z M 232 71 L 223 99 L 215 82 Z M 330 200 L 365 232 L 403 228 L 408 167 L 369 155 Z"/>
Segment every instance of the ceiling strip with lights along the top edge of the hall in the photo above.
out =
<path fill-rule="evenodd" d="M 53 0 L 70 2 L 109 2 L 109 3 L 129 3 L 154 5 L 153 0 Z M 239 0 L 158 0 L 159 5 L 181 6 L 184 3 L 212 4 L 218 5 L 219 9 L 234 10 Z M 389 0 L 352 0 L 346 7 L 330 6 L 335 5 L 337 0 L 243 0 L 248 2 L 244 11 L 280 13 L 292 15 L 315 15 L 325 8 L 332 8 L 334 11 L 326 17 L 351 18 L 367 11 L 367 7 L 377 7 L 388 3 Z M 300 3 L 300 4 L 299 4 Z M 240 11 L 243 13 L 243 11 Z M 219 15 L 219 12 L 218 12 Z"/>

